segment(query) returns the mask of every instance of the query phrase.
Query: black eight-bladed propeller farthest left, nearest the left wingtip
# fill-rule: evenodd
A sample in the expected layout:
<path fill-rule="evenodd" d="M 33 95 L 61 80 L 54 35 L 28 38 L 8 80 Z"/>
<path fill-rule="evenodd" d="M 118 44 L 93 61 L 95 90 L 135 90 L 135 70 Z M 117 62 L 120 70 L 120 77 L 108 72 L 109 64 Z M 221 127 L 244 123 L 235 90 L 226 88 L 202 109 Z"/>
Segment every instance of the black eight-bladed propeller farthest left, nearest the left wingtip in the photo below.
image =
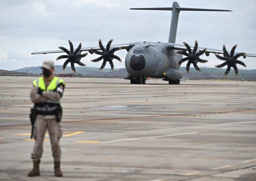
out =
<path fill-rule="evenodd" d="M 69 43 L 69 46 L 70 46 L 70 52 L 64 48 L 64 47 L 59 47 L 61 50 L 63 50 L 64 52 L 66 52 L 68 55 L 60 55 L 56 60 L 59 60 L 61 58 L 68 58 L 64 64 L 63 64 L 63 67 L 62 69 L 65 70 L 68 62 L 70 62 L 71 64 L 71 69 L 76 72 L 76 69 L 75 69 L 75 65 L 74 63 L 77 63 L 78 65 L 81 65 L 81 66 L 85 66 L 84 63 L 80 62 L 81 58 L 82 57 L 85 57 L 88 53 L 86 54 L 81 54 L 81 47 L 82 47 L 82 43 L 79 43 L 79 46 L 76 48 L 76 50 L 74 51 L 74 48 L 73 48 L 73 44 L 71 43 L 70 40 L 68 40 L 68 43 Z"/>

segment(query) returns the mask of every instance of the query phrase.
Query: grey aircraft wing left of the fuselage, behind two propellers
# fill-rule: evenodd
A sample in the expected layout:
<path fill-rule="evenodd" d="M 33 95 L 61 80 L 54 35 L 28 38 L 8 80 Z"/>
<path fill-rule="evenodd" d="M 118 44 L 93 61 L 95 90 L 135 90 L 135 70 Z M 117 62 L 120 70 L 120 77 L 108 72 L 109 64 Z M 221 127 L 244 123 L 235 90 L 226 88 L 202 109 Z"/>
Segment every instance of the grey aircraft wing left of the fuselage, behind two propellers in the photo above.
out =
<path fill-rule="evenodd" d="M 137 45 L 139 43 L 140 42 L 133 42 L 133 43 L 124 43 L 124 44 L 111 45 L 111 48 L 122 48 L 122 49 L 129 50 L 129 49 L 131 49 L 132 47 L 134 47 L 135 45 Z M 81 48 L 80 51 L 91 51 L 92 48 L 94 50 L 101 50 L 100 46 L 98 46 L 98 47 Z M 70 49 L 67 49 L 67 50 L 70 51 Z M 52 53 L 61 53 L 61 52 L 65 52 L 65 51 L 60 49 L 60 50 L 50 50 L 50 51 L 42 51 L 42 52 L 32 52 L 31 54 L 52 54 Z"/>

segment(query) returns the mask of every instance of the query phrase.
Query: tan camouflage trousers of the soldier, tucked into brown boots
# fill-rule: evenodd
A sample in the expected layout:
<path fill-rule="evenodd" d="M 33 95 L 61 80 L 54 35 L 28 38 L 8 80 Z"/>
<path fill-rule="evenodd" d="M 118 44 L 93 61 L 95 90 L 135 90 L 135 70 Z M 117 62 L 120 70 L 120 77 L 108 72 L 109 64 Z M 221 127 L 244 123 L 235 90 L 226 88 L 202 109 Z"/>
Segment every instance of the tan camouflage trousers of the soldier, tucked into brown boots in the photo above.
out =
<path fill-rule="evenodd" d="M 33 152 L 31 153 L 32 159 L 40 159 L 43 154 L 44 135 L 48 129 L 49 137 L 52 145 L 52 156 L 54 161 L 60 161 L 60 137 L 62 136 L 60 122 L 57 123 L 55 115 L 37 115 L 34 124 L 34 139 L 35 144 Z"/>

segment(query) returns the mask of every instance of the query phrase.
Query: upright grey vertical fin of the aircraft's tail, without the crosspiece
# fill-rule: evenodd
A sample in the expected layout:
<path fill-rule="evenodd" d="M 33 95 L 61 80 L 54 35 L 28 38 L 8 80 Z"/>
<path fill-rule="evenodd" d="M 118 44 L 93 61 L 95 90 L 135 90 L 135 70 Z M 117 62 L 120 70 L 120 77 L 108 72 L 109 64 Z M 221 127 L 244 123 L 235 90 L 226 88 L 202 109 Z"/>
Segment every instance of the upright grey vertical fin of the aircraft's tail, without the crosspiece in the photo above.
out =
<path fill-rule="evenodd" d="M 170 34 L 169 34 L 169 40 L 168 40 L 169 43 L 175 43 L 175 40 L 176 40 L 178 20 L 179 20 L 179 14 L 180 14 L 180 11 L 176 9 L 177 7 L 180 7 L 180 5 L 176 1 L 174 1 L 172 3 L 172 20 L 171 20 Z"/>

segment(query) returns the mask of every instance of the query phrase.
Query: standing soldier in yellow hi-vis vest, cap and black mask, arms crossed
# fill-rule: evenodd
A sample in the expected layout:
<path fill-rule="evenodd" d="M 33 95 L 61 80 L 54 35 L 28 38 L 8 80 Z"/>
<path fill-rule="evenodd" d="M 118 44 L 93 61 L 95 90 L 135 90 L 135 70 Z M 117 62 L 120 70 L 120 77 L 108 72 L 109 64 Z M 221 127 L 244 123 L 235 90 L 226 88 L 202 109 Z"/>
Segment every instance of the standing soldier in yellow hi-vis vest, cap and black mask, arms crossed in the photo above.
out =
<path fill-rule="evenodd" d="M 39 163 L 43 153 L 43 141 L 46 128 L 48 129 L 52 156 L 54 158 L 54 175 L 62 177 L 60 170 L 60 137 L 62 136 L 60 119 L 62 109 L 60 98 L 62 97 L 65 82 L 54 76 L 54 62 L 44 61 L 42 65 L 43 76 L 33 81 L 30 91 L 30 98 L 34 107 L 31 109 L 30 118 L 34 116 L 34 124 L 31 119 L 32 129 L 34 127 L 35 144 L 31 153 L 33 159 L 33 169 L 28 173 L 28 177 L 39 176 Z M 32 111 L 33 110 L 33 111 Z"/>

